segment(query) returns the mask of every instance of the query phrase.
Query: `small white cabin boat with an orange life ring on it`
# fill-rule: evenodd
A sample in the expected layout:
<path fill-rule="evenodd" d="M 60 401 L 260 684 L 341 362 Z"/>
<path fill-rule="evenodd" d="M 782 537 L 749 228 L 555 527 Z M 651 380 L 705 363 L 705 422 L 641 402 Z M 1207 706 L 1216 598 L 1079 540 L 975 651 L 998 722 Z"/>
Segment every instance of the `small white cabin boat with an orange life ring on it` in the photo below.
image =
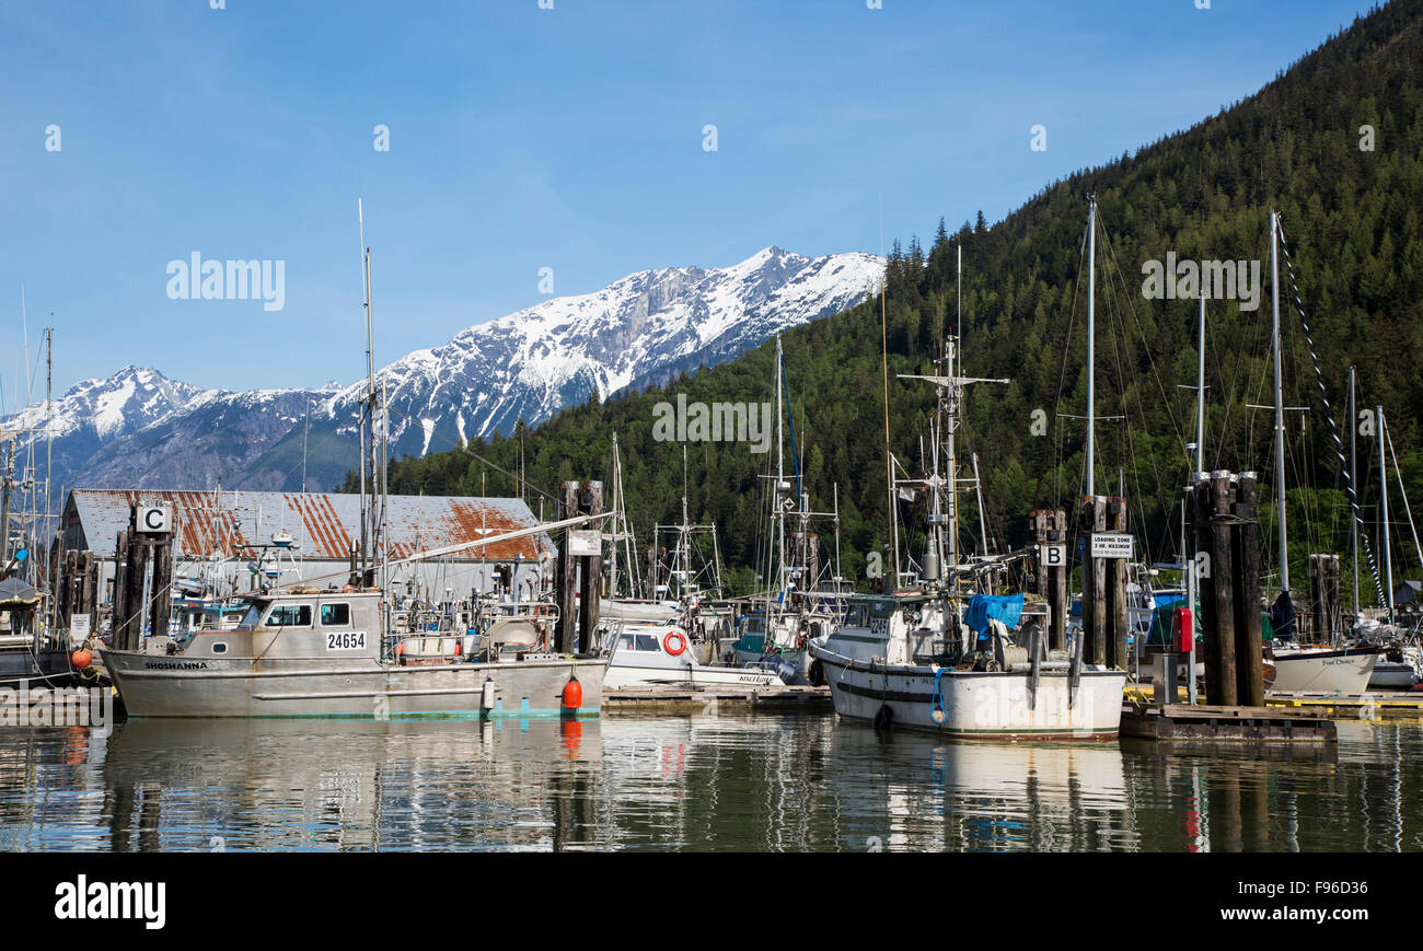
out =
<path fill-rule="evenodd" d="M 606 689 L 623 686 L 773 686 L 781 679 L 756 668 L 709 666 L 696 659 L 686 631 L 670 624 L 628 621 L 606 634 Z"/>

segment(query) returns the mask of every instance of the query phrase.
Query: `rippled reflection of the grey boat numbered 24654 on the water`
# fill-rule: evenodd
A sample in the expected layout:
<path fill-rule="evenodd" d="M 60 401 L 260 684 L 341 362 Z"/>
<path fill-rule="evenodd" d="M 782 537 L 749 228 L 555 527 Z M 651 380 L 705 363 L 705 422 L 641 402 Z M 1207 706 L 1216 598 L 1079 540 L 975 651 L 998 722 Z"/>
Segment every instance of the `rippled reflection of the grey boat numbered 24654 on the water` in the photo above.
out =
<path fill-rule="evenodd" d="M 596 720 L 128 720 L 102 773 L 117 850 L 558 850 L 602 759 Z"/>

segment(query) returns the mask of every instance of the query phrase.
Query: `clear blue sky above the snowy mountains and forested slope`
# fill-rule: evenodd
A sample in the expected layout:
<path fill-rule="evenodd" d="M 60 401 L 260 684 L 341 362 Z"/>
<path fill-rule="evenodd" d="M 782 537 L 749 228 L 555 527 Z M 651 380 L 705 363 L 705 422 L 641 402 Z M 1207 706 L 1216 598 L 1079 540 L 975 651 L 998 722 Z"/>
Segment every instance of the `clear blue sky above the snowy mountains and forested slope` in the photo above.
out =
<path fill-rule="evenodd" d="M 941 215 L 996 221 L 1252 94 L 1369 6 L 225 3 L 0 3 L 4 410 L 21 283 L 31 360 L 57 327 L 57 392 L 127 363 L 350 382 L 357 195 L 388 362 L 536 303 L 541 268 L 565 295 L 773 243 L 878 252 L 881 195 L 887 246 Z M 285 261 L 285 308 L 171 300 L 168 262 L 195 251 Z"/>

